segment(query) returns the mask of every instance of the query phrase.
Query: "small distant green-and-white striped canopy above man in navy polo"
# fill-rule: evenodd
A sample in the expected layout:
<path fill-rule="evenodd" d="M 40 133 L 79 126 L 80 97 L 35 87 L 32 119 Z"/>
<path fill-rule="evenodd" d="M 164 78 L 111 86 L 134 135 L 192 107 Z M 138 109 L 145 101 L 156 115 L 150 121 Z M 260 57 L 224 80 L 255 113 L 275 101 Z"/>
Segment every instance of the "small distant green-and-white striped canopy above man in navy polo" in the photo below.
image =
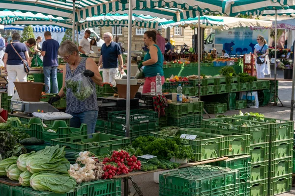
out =
<path fill-rule="evenodd" d="M 158 17 L 144 16 L 144 15 L 132 15 L 132 26 L 155 28 L 159 29 L 158 24 L 161 22 L 168 22 L 166 19 L 160 19 Z M 101 16 L 88 17 L 86 20 L 79 22 L 80 29 L 90 28 L 93 26 L 127 26 L 128 14 L 105 14 Z"/>

